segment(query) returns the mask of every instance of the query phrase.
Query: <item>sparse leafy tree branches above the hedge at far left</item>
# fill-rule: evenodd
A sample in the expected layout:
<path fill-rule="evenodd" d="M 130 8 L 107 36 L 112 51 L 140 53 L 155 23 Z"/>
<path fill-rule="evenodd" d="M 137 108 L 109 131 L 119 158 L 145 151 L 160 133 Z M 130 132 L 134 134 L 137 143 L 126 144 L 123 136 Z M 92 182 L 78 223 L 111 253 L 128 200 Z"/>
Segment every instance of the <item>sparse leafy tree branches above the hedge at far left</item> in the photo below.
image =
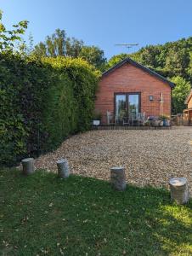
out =
<path fill-rule="evenodd" d="M 13 25 L 14 29 L 7 30 L 2 22 L 3 11 L 0 10 L 0 51 L 13 50 L 15 43 L 21 41 L 21 35 L 25 33 L 27 29 L 28 21 L 23 20 L 18 24 Z"/>

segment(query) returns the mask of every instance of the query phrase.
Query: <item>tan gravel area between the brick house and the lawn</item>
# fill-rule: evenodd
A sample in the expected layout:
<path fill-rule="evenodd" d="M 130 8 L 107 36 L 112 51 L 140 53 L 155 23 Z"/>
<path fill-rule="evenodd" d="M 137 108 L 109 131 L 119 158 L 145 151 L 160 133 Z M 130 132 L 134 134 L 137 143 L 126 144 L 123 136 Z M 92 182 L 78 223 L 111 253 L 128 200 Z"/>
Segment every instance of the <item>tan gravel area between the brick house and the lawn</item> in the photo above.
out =
<path fill-rule="evenodd" d="M 167 187 L 170 177 L 187 177 L 192 188 L 192 127 L 88 131 L 42 155 L 36 166 L 56 172 L 60 158 L 83 176 L 108 180 L 111 166 L 125 166 L 128 183 Z"/>

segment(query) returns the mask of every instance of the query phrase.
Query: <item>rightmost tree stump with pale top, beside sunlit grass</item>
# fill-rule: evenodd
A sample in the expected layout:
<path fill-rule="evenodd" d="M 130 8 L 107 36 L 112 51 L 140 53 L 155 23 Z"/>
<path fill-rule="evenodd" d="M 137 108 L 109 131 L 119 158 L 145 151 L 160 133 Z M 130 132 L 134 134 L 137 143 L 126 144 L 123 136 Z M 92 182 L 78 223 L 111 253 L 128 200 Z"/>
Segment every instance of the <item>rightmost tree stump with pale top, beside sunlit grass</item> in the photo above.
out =
<path fill-rule="evenodd" d="M 179 205 L 189 201 L 189 185 L 185 177 L 173 177 L 169 181 L 171 189 L 172 201 L 176 201 Z"/>

